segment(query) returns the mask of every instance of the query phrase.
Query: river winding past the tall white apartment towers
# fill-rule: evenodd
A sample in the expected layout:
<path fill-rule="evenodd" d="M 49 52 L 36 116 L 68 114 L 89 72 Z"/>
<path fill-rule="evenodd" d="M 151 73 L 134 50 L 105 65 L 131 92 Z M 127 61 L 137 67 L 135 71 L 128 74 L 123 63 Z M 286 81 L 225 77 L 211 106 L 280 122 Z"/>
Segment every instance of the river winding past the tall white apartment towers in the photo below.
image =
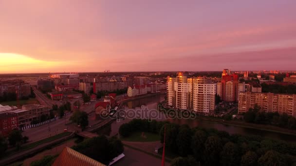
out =
<path fill-rule="evenodd" d="M 147 118 L 147 117 L 154 117 L 155 114 L 157 115 L 157 118 L 154 118 L 156 120 L 168 120 L 172 123 L 176 124 L 187 124 L 190 127 L 202 127 L 202 128 L 215 128 L 219 131 L 225 131 L 230 134 L 238 133 L 242 135 L 260 135 L 262 137 L 269 137 L 272 139 L 277 140 L 284 140 L 288 142 L 295 142 L 296 135 L 289 135 L 289 134 L 283 134 L 283 133 L 276 133 L 276 132 L 269 132 L 269 131 L 263 131 L 258 129 L 252 129 L 252 128 L 244 128 L 239 126 L 233 126 L 233 125 L 226 125 L 221 124 L 214 121 L 208 121 L 208 120 L 201 120 L 201 119 L 180 119 L 180 118 L 166 118 L 166 116 L 163 113 L 159 113 L 157 111 L 157 104 L 160 101 L 163 101 L 164 95 L 157 95 L 154 97 L 149 98 L 143 98 L 139 100 L 133 100 L 129 101 L 125 104 L 125 112 L 126 114 L 125 119 L 117 119 L 116 121 L 112 122 L 110 125 L 104 127 L 100 131 L 98 131 L 99 134 L 105 134 L 108 136 L 113 136 L 118 133 L 120 125 L 123 123 L 129 122 L 135 115 L 137 118 Z M 143 112 L 148 112 L 147 114 L 144 114 Z M 153 112 L 153 113 L 152 113 Z M 128 115 L 128 116 L 127 116 Z"/>

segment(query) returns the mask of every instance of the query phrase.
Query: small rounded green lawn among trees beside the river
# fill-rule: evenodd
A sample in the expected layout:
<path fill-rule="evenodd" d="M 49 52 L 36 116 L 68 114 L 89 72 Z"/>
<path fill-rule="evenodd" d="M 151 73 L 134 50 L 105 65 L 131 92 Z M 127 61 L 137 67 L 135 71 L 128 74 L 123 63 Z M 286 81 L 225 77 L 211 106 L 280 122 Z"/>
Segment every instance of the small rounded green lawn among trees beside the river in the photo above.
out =
<path fill-rule="evenodd" d="M 156 133 L 148 133 L 144 132 L 144 136 L 141 136 L 141 132 L 135 132 L 130 134 L 128 137 L 121 137 L 123 141 L 132 141 L 132 142 L 152 142 L 152 141 L 159 141 L 160 136 Z"/>

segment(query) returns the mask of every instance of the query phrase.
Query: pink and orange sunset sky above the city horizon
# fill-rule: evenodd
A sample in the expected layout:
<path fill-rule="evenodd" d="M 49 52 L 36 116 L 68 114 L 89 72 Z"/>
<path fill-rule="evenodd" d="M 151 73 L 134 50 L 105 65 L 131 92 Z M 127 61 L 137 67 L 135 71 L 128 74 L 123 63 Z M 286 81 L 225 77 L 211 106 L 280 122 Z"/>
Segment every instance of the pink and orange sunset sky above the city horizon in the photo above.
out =
<path fill-rule="evenodd" d="M 0 73 L 295 64 L 296 0 L 0 0 Z"/>

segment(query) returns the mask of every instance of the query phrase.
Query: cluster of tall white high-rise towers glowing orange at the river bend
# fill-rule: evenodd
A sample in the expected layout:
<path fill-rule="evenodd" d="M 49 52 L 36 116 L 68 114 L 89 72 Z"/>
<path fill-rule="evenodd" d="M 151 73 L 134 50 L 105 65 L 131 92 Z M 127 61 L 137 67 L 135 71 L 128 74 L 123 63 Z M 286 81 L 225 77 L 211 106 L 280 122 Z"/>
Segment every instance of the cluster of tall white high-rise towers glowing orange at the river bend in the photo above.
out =
<path fill-rule="evenodd" d="M 167 77 L 166 90 L 170 106 L 200 113 L 215 109 L 216 83 L 205 77 L 188 78 L 188 72 L 178 72 L 176 78 Z"/>

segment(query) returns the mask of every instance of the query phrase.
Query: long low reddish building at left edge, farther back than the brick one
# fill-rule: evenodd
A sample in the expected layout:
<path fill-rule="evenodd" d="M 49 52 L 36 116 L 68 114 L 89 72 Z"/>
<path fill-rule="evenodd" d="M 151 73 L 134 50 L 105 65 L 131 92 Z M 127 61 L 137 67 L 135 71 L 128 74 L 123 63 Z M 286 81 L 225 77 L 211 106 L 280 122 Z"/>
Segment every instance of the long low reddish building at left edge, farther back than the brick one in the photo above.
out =
<path fill-rule="evenodd" d="M 18 98 L 29 97 L 31 95 L 31 87 L 29 83 L 23 80 L 0 81 L 0 96 L 9 93 L 18 94 Z"/>

